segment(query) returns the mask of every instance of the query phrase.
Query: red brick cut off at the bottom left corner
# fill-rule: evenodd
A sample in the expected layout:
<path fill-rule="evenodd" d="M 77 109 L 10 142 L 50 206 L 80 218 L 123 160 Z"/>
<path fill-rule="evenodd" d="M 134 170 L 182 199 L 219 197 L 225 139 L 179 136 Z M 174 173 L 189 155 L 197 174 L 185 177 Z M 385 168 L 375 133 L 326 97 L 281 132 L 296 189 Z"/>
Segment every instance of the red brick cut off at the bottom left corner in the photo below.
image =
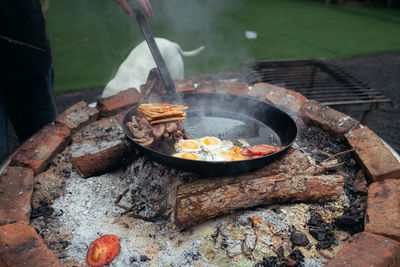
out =
<path fill-rule="evenodd" d="M 7 267 L 61 267 L 35 229 L 22 223 L 0 226 L 0 259 Z"/>

